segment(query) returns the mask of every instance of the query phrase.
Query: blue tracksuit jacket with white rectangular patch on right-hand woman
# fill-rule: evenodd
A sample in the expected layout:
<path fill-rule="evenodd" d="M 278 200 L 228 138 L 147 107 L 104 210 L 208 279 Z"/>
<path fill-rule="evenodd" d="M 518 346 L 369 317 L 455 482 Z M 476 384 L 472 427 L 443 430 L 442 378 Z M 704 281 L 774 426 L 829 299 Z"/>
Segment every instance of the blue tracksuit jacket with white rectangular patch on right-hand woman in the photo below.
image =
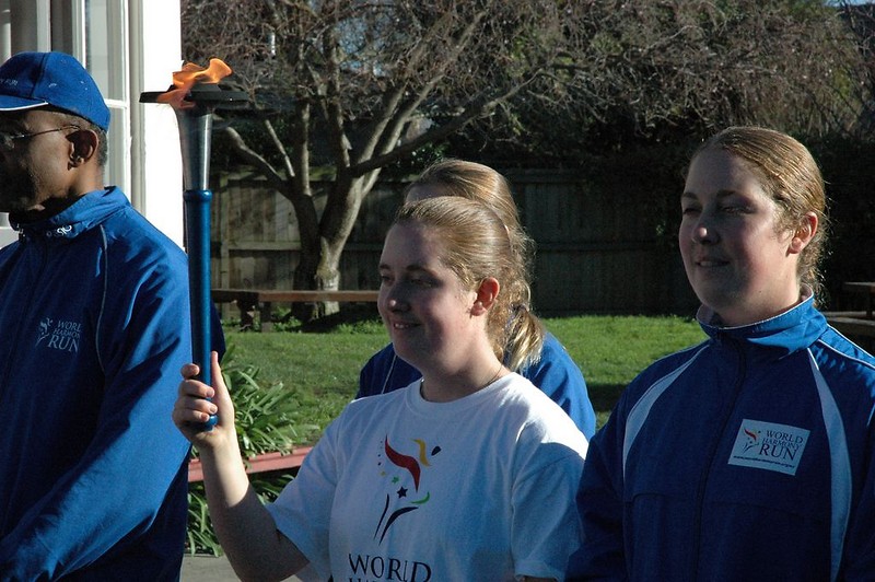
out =
<path fill-rule="evenodd" d="M 572 579 L 875 578 L 875 358 L 810 298 L 702 327 L 590 444 Z"/>

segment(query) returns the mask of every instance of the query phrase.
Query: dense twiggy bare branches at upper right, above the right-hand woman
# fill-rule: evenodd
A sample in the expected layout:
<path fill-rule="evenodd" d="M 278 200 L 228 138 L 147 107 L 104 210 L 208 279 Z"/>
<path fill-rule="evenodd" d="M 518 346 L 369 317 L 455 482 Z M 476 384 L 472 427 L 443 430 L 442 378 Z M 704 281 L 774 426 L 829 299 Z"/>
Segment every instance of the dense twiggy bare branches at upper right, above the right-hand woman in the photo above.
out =
<path fill-rule="evenodd" d="M 511 104 L 516 126 L 476 124 L 490 158 L 498 139 L 561 161 L 728 125 L 848 135 L 871 98 L 856 36 L 820 0 L 580 0 L 564 24 L 556 66 Z"/>

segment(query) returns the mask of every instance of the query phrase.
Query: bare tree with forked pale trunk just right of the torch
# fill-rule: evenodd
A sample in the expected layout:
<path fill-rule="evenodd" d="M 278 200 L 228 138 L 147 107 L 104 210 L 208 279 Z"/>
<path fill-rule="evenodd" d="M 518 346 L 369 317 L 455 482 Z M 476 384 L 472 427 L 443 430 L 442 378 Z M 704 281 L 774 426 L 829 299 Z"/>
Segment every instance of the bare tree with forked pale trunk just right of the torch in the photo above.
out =
<path fill-rule="evenodd" d="M 183 0 L 187 60 L 219 57 L 260 130 L 234 150 L 288 198 L 294 284 L 337 289 L 340 253 L 387 164 L 506 103 L 559 50 L 550 0 Z M 314 162 L 315 161 L 315 162 Z M 318 216 L 311 166 L 334 167 Z"/>

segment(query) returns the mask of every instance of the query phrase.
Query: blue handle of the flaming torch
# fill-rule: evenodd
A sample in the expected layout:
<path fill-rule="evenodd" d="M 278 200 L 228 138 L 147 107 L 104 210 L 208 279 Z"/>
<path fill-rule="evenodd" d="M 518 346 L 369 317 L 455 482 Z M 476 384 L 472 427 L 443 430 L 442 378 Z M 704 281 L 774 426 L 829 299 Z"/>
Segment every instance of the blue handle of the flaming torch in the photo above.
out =
<path fill-rule="evenodd" d="M 210 201 L 212 191 L 185 190 L 185 236 L 188 249 L 188 286 L 191 313 L 191 356 L 200 366 L 198 379 L 211 383 L 210 373 Z M 203 423 L 203 430 L 211 430 L 219 421 L 212 415 Z"/>

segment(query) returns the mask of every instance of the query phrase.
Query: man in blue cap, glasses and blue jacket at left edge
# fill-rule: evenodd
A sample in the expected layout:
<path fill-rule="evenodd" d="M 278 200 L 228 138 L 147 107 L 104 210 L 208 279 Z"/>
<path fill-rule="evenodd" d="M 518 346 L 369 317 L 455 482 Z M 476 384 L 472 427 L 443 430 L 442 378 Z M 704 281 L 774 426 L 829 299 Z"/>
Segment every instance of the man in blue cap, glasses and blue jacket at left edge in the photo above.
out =
<path fill-rule="evenodd" d="M 0 579 L 177 580 L 182 249 L 104 187 L 109 110 L 61 53 L 0 67 Z"/>

